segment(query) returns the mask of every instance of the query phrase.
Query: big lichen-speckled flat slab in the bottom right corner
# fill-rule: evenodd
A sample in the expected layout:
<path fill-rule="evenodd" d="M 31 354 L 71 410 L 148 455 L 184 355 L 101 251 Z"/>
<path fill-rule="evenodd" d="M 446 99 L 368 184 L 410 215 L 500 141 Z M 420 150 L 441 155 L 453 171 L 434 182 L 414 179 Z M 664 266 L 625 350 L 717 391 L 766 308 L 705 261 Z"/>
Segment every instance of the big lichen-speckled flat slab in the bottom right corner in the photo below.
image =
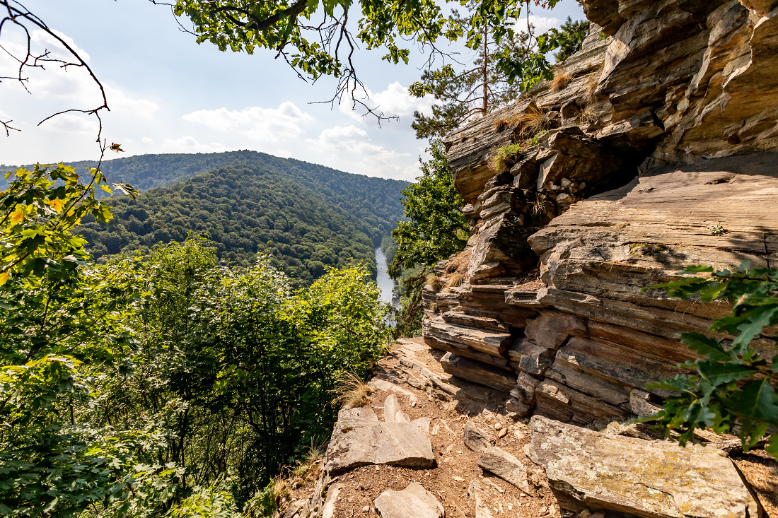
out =
<path fill-rule="evenodd" d="M 535 415 L 527 457 L 565 509 L 646 518 L 755 518 L 758 505 L 720 450 L 606 436 Z"/>

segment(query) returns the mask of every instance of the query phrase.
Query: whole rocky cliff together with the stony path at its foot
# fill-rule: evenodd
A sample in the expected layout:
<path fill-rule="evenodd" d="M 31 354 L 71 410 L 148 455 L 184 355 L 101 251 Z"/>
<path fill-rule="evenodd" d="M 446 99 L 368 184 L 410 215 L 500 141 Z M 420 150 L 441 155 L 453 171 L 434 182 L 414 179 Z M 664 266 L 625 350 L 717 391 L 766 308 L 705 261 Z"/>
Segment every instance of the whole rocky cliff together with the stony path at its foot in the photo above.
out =
<path fill-rule="evenodd" d="M 778 1 L 582 4 L 553 82 L 446 139 L 471 236 L 422 292 L 426 347 L 381 360 L 284 518 L 778 516 L 767 453 L 620 424 L 729 312 L 643 288 L 778 265 Z"/>

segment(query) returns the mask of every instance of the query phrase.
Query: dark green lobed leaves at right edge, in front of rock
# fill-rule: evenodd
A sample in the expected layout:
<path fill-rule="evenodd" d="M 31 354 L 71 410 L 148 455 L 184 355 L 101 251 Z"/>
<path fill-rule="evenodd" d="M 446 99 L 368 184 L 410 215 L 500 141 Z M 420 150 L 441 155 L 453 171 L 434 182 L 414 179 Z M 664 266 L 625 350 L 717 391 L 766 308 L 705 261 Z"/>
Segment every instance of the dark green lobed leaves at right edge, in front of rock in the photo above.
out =
<path fill-rule="evenodd" d="M 681 274 L 708 274 L 652 286 L 665 289 L 669 296 L 703 302 L 723 299 L 734 303 L 728 317 L 714 320 L 711 331 L 734 337 L 720 341 L 700 333 L 682 334 L 682 342 L 701 358 L 686 362 L 696 370 L 692 376 L 679 375 L 654 383 L 654 387 L 677 391 L 663 410 L 647 418 L 669 435 L 678 432 L 681 444 L 694 441 L 694 430 L 711 428 L 727 432 L 739 425 L 738 436 L 748 450 L 778 426 L 778 355 L 772 362 L 760 357 L 752 341 L 766 327 L 778 324 L 778 269 L 754 268 L 744 261 L 738 271 L 714 271 L 710 267 L 689 266 Z M 774 338 L 774 337 L 773 337 Z M 778 458 L 778 436 L 773 434 L 766 447 Z"/>

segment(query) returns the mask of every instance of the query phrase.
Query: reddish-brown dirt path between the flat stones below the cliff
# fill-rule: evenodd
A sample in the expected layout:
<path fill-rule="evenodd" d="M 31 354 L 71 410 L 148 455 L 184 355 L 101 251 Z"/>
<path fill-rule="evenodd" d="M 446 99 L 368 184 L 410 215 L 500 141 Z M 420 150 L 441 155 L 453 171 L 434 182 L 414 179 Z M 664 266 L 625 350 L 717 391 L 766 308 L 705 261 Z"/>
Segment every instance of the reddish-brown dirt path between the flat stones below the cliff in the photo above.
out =
<path fill-rule="evenodd" d="M 499 408 L 499 403 L 489 397 L 493 390 L 450 380 L 433 354 L 437 352 L 426 348 L 420 341 L 395 345 L 375 369 L 375 376 L 370 383 L 379 390 L 373 391 L 370 402 L 365 406 L 383 418 L 384 400 L 389 394 L 397 394 L 402 411 L 409 418 L 429 418 L 436 467 L 414 470 L 370 465 L 342 474 L 338 481 L 342 482 L 343 488 L 335 502 L 333 518 L 375 516 L 373 502 L 378 495 L 387 489 L 404 489 L 414 481 L 437 496 L 447 516 L 475 516 L 473 503 L 468 496 L 471 481 L 476 481 L 488 495 L 492 516 L 560 516 L 559 505 L 548 490 L 543 470 L 524 455 L 523 448 L 529 440 L 527 425 L 514 423 L 505 415 L 504 408 Z M 417 385 L 418 380 L 423 378 L 419 376 L 418 370 L 408 366 L 409 363 L 428 369 L 443 381 L 457 383 L 456 387 L 464 390 L 460 398 L 465 401 L 452 397 L 449 397 L 452 401 L 441 401 L 435 397 L 436 394 L 440 395 L 439 391 L 413 387 L 408 383 L 409 377 Z M 387 390 L 387 384 L 381 382 L 391 383 L 391 389 Z M 489 434 L 493 446 L 499 446 L 522 461 L 534 485 L 533 496 L 525 495 L 515 486 L 478 467 L 478 454 L 464 445 L 463 427 L 468 418 L 472 418 L 478 428 Z"/>

